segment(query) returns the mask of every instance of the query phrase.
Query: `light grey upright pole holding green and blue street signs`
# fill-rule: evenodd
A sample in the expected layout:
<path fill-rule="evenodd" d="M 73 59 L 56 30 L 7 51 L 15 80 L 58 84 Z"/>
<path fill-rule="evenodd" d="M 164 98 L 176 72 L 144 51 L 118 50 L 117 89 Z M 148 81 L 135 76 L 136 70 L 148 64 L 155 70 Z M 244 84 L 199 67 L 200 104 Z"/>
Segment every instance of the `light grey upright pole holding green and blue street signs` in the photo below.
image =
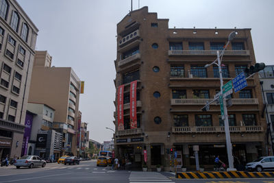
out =
<path fill-rule="evenodd" d="M 226 145 L 227 145 L 227 158 L 228 158 L 228 164 L 229 164 L 229 169 L 227 171 L 234 171 L 234 165 L 233 165 L 233 156 L 232 156 L 232 143 L 230 140 L 230 132 L 229 132 L 229 123 L 228 123 L 228 116 L 227 116 L 227 105 L 225 101 L 225 97 L 223 97 L 223 75 L 222 75 L 222 69 L 221 69 L 221 60 L 220 60 L 220 55 L 219 51 L 217 51 L 217 58 L 218 58 L 218 67 L 219 67 L 219 73 L 220 73 L 220 82 L 221 82 L 221 96 L 223 99 L 223 114 L 224 114 L 224 121 L 225 121 L 225 140 L 226 140 Z M 221 102 L 220 102 L 221 106 Z M 223 115 L 222 115 L 223 119 Z"/>

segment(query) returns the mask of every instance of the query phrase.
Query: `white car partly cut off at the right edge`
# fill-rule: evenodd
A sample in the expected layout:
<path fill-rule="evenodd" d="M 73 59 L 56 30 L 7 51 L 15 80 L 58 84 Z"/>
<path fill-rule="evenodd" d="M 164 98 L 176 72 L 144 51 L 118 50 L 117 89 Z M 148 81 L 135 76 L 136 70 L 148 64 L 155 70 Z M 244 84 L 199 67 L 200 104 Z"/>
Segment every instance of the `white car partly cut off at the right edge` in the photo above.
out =
<path fill-rule="evenodd" d="M 258 171 L 261 172 L 266 169 L 274 169 L 274 156 L 264 156 L 260 157 L 253 162 L 247 163 L 245 167 L 249 171 Z"/>

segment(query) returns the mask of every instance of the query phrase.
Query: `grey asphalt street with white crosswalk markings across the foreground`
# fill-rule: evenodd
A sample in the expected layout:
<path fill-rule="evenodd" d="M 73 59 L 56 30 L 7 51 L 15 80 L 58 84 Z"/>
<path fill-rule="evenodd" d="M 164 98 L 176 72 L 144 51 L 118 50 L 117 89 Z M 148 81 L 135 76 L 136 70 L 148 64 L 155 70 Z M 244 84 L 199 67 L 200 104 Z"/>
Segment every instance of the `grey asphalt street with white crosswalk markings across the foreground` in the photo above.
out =
<path fill-rule="evenodd" d="M 49 163 L 45 168 L 0 167 L 1 182 L 204 182 L 204 183 L 274 183 L 274 179 L 233 179 L 233 180 L 178 180 L 172 172 L 142 172 L 111 170 L 110 167 L 97 167 L 95 160 L 82 161 L 79 165 Z"/>

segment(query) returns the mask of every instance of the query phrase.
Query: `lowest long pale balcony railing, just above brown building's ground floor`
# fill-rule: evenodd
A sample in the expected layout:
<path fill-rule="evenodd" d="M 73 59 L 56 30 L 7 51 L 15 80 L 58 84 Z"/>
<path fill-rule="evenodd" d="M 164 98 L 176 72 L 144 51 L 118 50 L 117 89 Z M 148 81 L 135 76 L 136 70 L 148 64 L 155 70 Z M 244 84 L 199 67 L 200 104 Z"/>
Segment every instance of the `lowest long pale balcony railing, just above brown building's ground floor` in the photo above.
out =
<path fill-rule="evenodd" d="M 229 126 L 231 133 L 264 132 L 262 126 Z M 172 127 L 173 134 L 225 133 L 224 126 Z"/>

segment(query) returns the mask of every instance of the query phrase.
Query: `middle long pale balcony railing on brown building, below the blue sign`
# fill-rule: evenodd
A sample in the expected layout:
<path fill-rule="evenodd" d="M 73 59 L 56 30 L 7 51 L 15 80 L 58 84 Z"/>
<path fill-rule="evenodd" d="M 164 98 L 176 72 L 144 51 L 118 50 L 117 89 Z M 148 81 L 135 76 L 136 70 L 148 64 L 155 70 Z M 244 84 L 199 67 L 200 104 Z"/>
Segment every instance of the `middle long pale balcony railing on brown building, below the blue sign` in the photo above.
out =
<path fill-rule="evenodd" d="M 214 99 L 171 99 L 171 106 L 183 106 L 183 105 L 205 105 L 206 101 L 212 101 Z M 215 104 L 216 101 L 211 105 Z M 233 105 L 257 105 L 258 99 L 232 99 Z"/>

